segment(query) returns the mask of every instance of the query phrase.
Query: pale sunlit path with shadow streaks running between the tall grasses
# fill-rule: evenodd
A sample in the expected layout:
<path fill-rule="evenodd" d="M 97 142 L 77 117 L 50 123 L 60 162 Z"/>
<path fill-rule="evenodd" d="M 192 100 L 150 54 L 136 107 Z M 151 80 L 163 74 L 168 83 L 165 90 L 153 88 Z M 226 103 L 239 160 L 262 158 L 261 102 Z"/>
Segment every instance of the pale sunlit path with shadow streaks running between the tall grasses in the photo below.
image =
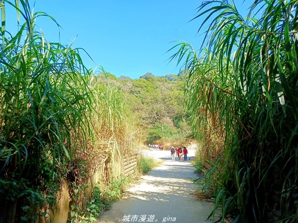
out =
<path fill-rule="evenodd" d="M 162 166 L 142 176 L 139 184 L 130 188 L 112 209 L 104 213 L 97 223 L 123 222 L 176 222 L 208 223 L 213 204 L 192 195 L 197 179 L 189 161 L 171 161 L 169 151 L 144 151 L 148 156 L 164 159 Z M 194 150 L 188 157 L 193 159 Z M 211 221 L 210 221 L 211 222 Z"/>

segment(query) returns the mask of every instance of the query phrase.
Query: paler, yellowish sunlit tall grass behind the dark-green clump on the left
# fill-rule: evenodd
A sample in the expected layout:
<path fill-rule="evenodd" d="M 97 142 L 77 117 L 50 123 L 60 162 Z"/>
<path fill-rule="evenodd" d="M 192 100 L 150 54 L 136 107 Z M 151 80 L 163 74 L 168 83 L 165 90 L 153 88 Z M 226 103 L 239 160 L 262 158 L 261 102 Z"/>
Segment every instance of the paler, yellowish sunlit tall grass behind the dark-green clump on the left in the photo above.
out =
<path fill-rule="evenodd" d="M 106 180 L 114 179 L 113 169 L 117 160 L 133 153 L 137 141 L 133 129 L 133 117 L 124 100 L 123 92 L 104 73 L 94 76 L 90 89 L 93 92 L 92 126 L 95 147 L 92 162 L 106 169 Z M 99 166 L 99 167 L 100 167 Z M 103 185 L 105 185 L 103 183 Z"/>

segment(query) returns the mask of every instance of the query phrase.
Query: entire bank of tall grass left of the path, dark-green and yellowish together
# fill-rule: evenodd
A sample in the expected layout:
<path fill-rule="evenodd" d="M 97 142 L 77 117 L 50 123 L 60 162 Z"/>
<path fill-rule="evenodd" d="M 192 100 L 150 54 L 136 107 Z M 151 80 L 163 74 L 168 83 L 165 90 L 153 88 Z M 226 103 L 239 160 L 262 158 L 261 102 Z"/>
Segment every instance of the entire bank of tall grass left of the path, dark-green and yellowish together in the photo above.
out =
<path fill-rule="evenodd" d="M 5 29 L 7 6 L 16 9 L 15 35 Z M 33 13 L 28 0 L 1 0 L 0 8 L 0 218 L 33 222 L 63 179 L 81 187 L 96 167 L 109 173 L 133 134 L 124 140 L 129 111 L 119 91 L 94 82 L 79 49 L 36 29 L 40 16 L 59 26 L 53 17 Z"/>

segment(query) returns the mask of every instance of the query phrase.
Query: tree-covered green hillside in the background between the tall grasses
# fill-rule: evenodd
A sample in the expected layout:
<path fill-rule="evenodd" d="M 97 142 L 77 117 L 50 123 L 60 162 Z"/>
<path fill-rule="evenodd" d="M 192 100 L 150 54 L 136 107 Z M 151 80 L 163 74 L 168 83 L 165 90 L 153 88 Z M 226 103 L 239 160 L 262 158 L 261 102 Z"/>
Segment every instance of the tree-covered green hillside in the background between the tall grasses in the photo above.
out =
<path fill-rule="evenodd" d="M 97 80 L 116 86 L 134 114 L 139 143 L 179 144 L 191 137 L 183 106 L 185 72 L 140 75 L 139 79 L 99 73 Z"/>

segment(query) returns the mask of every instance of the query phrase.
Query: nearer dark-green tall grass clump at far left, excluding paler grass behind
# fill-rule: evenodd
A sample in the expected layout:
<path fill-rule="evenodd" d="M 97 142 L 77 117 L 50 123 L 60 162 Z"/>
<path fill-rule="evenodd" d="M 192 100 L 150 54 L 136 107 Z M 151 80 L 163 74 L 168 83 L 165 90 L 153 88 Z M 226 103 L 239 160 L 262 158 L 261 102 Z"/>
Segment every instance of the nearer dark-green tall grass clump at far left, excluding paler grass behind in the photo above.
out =
<path fill-rule="evenodd" d="M 14 36 L 5 30 L 7 5 L 17 12 Z M 21 200 L 21 191 L 56 190 L 57 174 L 74 175 L 63 166 L 73 166 L 90 132 L 89 71 L 78 49 L 49 43 L 35 29 L 39 16 L 48 15 L 32 13 L 27 0 L 1 1 L 0 176 L 8 203 Z"/>

